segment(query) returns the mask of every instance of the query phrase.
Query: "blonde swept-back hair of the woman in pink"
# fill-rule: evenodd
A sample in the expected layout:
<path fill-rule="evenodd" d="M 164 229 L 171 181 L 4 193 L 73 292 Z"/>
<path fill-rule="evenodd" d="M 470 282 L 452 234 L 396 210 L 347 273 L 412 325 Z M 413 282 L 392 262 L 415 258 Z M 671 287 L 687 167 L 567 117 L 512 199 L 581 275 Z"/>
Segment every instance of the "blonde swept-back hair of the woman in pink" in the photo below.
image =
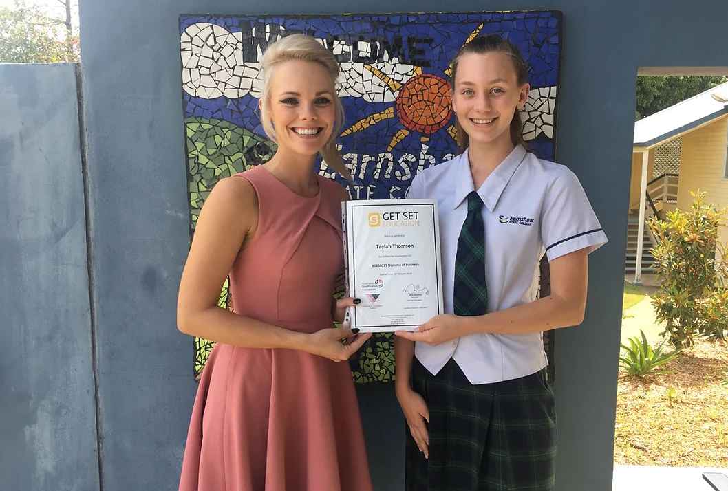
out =
<path fill-rule="evenodd" d="M 312 63 L 319 63 L 326 72 L 331 76 L 331 87 L 333 87 L 333 103 L 336 108 L 336 119 L 331 130 L 331 137 L 328 142 L 321 149 L 320 154 L 324 161 L 332 169 L 339 172 L 351 180 L 351 174 L 347 169 L 344 160 L 341 159 L 341 153 L 336 148 L 336 137 L 341 132 L 341 126 L 344 124 L 344 106 L 341 105 L 339 96 L 336 95 L 336 79 L 339 78 L 339 63 L 333 54 L 323 47 L 323 45 L 305 34 L 291 34 L 284 38 L 275 41 L 271 44 L 263 54 L 263 95 L 261 100 L 261 123 L 266 135 L 273 140 L 277 141 L 275 137 L 275 129 L 273 127 L 273 121 L 269 116 L 269 105 L 270 105 L 270 87 L 271 81 L 275 73 L 276 65 L 284 63 L 290 60 L 301 60 L 310 61 Z M 301 74 L 304 76 L 304 74 Z"/>

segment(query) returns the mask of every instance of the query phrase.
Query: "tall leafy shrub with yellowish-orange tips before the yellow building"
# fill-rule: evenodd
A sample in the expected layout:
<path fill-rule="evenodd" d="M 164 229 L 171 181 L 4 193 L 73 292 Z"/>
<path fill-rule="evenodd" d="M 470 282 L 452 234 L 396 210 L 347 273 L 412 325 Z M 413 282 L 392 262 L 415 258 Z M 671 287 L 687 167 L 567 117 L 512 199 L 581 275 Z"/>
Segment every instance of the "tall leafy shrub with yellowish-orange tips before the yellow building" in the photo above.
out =
<path fill-rule="evenodd" d="M 725 210 L 705 204 L 705 193 L 693 196 L 688 211 L 675 209 L 665 220 L 648 221 L 657 239 L 652 255 L 660 276 L 652 305 L 675 348 L 692 346 L 697 333 L 722 338 L 728 327 L 727 258 L 718 242 Z"/>

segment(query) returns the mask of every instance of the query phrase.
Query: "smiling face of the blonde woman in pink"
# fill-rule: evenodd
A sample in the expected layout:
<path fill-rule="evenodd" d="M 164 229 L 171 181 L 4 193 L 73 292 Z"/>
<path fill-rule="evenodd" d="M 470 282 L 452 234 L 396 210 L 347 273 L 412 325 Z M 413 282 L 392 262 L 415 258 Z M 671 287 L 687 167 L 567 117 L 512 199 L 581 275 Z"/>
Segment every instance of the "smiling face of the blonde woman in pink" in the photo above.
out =
<path fill-rule="evenodd" d="M 268 103 L 280 148 L 312 156 L 324 147 L 336 122 L 333 91 L 320 63 L 290 60 L 275 68 Z"/>

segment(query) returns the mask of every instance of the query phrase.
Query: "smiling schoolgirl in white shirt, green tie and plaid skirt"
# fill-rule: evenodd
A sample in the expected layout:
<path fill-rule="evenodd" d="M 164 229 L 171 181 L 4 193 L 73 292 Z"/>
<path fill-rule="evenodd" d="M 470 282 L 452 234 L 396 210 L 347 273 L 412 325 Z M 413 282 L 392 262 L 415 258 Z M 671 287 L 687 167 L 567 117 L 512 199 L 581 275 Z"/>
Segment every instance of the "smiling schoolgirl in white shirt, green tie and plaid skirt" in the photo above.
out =
<path fill-rule="evenodd" d="M 480 36 L 452 63 L 459 156 L 420 172 L 438 200 L 446 314 L 397 332 L 406 489 L 554 489 L 556 416 L 542 332 L 580 324 L 587 255 L 606 242 L 579 180 L 523 145 L 528 67 Z M 551 292 L 537 299 L 539 260 Z"/>

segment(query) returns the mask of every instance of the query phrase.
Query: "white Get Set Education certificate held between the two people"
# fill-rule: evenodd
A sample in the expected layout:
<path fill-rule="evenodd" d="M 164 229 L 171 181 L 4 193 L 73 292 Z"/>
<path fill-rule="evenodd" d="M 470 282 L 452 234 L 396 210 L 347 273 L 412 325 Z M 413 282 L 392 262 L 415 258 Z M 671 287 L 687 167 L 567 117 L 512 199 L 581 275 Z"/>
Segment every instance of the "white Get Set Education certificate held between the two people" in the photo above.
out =
<path fill-rule="evenodd" d="M 351 327 L 415 330 L 443 313 L 438 205 L 433 199 L 341 204 Z"/>

